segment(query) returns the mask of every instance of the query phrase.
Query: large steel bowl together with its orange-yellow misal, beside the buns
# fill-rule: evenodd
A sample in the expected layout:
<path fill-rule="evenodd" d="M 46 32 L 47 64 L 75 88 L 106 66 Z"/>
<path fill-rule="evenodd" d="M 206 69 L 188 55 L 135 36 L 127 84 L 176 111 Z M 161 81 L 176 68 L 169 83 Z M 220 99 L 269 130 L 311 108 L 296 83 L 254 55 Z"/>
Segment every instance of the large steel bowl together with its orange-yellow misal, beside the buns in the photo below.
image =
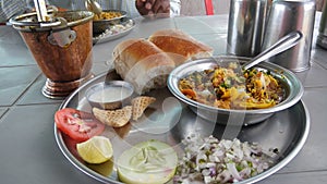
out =
<path fill-rule="evenodd" d="M 304 88 L 294 73 L 270 62 L 244 71 L 247 61 L 217 56 L 186 62 L 169 74 L 167 86 L 199 118 L 225 125 L 264 122 L 301 100 Z"/>

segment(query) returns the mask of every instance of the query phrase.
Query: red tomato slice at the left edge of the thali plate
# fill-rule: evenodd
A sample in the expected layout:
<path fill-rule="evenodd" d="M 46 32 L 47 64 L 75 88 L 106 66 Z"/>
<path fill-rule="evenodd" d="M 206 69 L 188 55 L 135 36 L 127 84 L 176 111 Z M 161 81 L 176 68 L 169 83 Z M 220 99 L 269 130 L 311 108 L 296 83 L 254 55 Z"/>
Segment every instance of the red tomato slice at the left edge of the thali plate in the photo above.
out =
<path fill-rule="evenodd" d="M 100 135 L 106 125 L 92 113 L 72 108 L 61 109 L 55 114 L 57 127 L 76 142 L 85 142 L 95 135 Z"/>

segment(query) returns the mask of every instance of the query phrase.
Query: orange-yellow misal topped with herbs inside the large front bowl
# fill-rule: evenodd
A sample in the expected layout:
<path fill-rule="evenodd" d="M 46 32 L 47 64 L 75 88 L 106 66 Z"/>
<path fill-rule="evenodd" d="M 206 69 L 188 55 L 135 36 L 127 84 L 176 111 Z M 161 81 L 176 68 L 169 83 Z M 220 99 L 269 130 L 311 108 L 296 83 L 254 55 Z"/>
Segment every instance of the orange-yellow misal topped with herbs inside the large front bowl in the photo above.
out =
<path fill-rule="evenodd" d="M 222 109 L 264 109 L 279 103 L 284 89 L 269 72 L 237 72 L 238 65 L 193 72 L 179 81 L 187 98 Z"/>

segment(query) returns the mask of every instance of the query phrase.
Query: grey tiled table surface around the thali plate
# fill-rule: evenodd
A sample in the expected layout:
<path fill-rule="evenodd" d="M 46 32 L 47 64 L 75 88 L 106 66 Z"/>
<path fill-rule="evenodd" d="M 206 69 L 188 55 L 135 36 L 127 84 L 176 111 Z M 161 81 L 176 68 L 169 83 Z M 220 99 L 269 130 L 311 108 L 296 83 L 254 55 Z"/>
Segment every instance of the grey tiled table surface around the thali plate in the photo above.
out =
<path fill-rule="evenodd" d="M 296 73 L 305 87 L 302 100 L 311 114 L 308 138 L 289 164 L 259 183 L 327 182 L 327 50 L 315 45 L 319 17 L 320 13 L 317 13 L 311 69 Z M 214 47 L 215 54 L 225 53 L 227 24 L 227 15 L 138 19 L 129 35 L 94 46 L 93 72 L 96 75 L 107 72 L 111 51 L 118 42 L 146 38 L 162 28 L 180 28 Z M 10 26 L 0 26 L 0 183 L 99 183 L 75 169 L 58 148 L 53 114 L 62 100 L 41 95 L 45 81 L 19 33 Z"/>

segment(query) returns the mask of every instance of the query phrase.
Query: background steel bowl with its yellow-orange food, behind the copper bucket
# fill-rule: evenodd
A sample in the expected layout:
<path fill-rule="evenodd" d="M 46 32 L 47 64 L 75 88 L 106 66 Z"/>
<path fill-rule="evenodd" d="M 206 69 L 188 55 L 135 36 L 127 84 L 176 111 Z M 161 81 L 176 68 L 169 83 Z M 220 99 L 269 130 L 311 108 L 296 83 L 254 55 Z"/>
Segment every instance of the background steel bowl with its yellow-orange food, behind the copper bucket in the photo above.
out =
<path fill-rule="evenodd" d="M 101 34 L 110 29 L 116 24 L 120 24 L 126 17 L 128 13 L 120 10 L 104 10 L 101 14 L 95 14 L 93 17 L 93 34 Z"/>

